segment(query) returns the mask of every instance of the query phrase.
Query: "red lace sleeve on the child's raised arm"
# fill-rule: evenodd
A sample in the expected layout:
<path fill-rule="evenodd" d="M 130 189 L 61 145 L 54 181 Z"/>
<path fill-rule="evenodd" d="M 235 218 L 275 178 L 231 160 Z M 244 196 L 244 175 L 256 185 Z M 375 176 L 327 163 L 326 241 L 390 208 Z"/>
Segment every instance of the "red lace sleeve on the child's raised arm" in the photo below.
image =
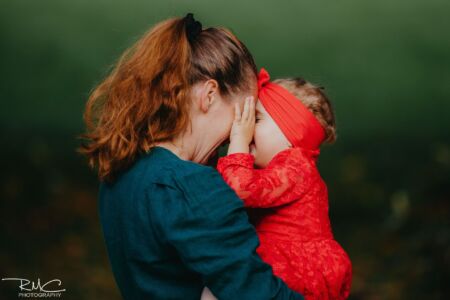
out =
<path fill-rule="evenodd" d="M 268 208 L 301 198 L 308 185 L 309 166 L 301 151 L 291 148 L 277 154 L 265 169 L 253 167 L 254 157 L 234 153 L 219 159 L 217 170 L 245 206 Z"/>

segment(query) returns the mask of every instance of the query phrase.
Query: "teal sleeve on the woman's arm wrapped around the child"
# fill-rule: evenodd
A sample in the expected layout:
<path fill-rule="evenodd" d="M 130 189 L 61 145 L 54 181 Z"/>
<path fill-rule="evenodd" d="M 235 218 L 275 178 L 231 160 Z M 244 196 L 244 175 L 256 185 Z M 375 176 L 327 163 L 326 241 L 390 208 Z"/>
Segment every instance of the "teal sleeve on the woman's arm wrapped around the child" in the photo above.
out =
<path fill-rule="evenodd" d="M 159 202 L 164 207 L 149 213 L 159 224 L 163 239 L 188 268 L 203 277 L 215 296 L 303 299 L 256 254 L 258 238 L 242 201 L 216 170 L 202 167 L 202 171 L 175 181 L 176 188 L 159 187 L 166 193 Z"/>

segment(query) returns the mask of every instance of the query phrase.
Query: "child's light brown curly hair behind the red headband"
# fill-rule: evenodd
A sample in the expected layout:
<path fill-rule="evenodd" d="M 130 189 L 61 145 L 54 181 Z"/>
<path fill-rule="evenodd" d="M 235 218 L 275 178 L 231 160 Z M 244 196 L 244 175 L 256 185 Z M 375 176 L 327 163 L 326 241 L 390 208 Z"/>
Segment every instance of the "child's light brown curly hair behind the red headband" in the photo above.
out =
<path fill-rule="evenodd" d="M 273 81 L 297 97 L 317 118 L 325 130 L 324 142 L 336 141 L 336 121 L 333 108 L 324 88 L 316 86 L 303 78 L 280 78 Z"/>

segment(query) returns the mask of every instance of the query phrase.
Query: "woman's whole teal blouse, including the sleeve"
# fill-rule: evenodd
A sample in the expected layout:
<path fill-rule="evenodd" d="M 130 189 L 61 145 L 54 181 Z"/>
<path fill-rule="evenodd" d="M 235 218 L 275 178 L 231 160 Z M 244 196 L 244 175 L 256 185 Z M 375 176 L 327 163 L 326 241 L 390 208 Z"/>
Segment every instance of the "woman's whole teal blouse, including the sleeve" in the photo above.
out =
<path fill-rule="evenodd" d="M 153 148 L 113 184 L 99 214 L 124 299 L 303 299 L 256 254 L 242 201 L 211 168 Z"/>

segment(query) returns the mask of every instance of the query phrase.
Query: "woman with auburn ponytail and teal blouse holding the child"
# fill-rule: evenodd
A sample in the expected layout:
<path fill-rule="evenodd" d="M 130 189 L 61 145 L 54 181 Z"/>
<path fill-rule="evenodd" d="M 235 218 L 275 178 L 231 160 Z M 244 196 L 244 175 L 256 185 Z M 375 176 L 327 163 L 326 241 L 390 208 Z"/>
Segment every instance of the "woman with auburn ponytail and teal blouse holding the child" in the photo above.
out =
<path fill-rule="evenodd" d="M 157 24 L 87 103 L 82 152 L 125 299 L 302 299 L 256 255 L 242 201 L 202 166 L 228 138 L 256 67 L 229 31 L 192 14 Z"/>

